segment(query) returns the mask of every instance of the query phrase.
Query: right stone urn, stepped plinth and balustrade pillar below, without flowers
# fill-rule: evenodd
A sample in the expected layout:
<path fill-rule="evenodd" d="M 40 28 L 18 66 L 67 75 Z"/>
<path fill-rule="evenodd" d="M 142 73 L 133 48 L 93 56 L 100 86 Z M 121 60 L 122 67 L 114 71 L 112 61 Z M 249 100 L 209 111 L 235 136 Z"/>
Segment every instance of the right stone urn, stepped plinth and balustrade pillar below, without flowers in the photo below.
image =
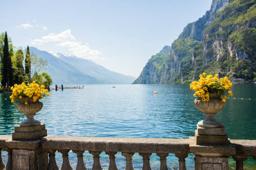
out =
<path fill-rule="evenodd" d="M 195 154 L 195 170 L 228 170 L 228 157 L 236 153 L 236 148 L 229 144 L 223 123 L 214 118 L 225 102 L 216 93 L 210 94 L 209 102 L 201 98 L 194 102 L 205 115 L 205 120 L 197 123 L 195 137 L 189 137 L 195 141 L 189 144 L 190 152 Z"/>

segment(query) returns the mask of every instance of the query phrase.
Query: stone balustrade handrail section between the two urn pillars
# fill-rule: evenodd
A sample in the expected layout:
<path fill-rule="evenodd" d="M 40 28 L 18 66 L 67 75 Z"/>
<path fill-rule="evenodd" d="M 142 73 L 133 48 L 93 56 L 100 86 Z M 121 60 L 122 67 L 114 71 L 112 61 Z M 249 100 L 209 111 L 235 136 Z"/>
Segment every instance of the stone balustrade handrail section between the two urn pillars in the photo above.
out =
<path fill-rule="evenodd" d="M 190 153 L 190 139 L 46 136 L 43 147 L 143 153 Z"/>

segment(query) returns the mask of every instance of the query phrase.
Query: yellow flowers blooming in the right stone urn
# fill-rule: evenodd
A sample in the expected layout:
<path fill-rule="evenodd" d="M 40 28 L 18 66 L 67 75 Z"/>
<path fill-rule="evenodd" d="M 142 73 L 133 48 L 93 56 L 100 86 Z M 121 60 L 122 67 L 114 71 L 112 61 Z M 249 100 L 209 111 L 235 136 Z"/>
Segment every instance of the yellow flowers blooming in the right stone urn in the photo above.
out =
<path fill-rule="evenodd" d="M 194 96 L 201 97 L 202 101 L 209 102 L 210 94 L 217 93 L 219 97 L 228 92 L 228 96 L 232 96 L 232 92 L 230 91 L 232 87 L 232 83 L 228 80 L 228 77 L 218 78 L 218 74 L 215 76 L 206 75 L 206 73 L 202 73 L 200 75 L 200 79 L 198 81 L 193 81 L 190 84 L 190 89 L 195 90 Z M 226 102 L 227 96 L 223 96 L 220 98 L 222 102 Z"/>

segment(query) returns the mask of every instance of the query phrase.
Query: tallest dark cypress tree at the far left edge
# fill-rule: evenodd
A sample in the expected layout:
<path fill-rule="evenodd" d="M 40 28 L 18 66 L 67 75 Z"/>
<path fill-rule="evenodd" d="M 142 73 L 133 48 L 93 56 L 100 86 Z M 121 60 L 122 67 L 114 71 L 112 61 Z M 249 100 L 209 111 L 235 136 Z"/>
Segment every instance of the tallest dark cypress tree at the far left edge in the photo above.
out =
<path fill-rule="evenodd" d="M 3 47 L 3 60 L 2 60 L 2 82 L 1 84 L 5 86 L 8 84 L 8 57 L 9 55 L 9 47 L 8 47 L 8 38 L 7 32 L 5 31 L 5 40 L 4 40 L 4 47 Z"/>

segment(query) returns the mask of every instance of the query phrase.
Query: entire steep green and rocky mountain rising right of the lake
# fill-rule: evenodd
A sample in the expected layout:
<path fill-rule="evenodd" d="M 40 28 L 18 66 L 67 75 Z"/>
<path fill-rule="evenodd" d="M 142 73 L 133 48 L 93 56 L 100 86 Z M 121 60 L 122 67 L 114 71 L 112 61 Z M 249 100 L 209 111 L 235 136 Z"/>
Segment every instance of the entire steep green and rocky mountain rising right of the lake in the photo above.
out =
<path fill-rule="evenodd" d="M 168 48 L 148 60 L 134 84 L 189 83 L 202 72 L 256 81 L 256 1 L 213 0 Z"/>

